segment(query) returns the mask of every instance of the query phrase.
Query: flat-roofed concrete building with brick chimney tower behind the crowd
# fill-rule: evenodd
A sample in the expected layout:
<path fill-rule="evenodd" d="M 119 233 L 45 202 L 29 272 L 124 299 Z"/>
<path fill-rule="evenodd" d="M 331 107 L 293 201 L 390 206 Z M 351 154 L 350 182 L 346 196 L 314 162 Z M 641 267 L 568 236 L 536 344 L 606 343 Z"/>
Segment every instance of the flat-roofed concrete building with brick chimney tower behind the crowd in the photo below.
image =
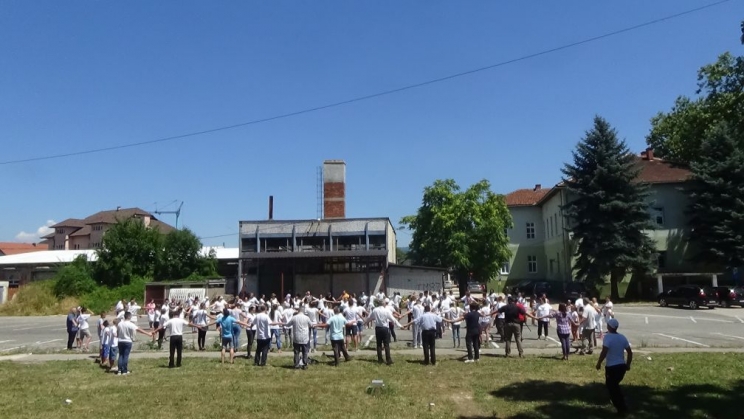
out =
<path fill-rule="evenodd" d="M 388 218 L 346 218 L 346 164 L 323 164 L 323 218 L 240 221 L 239 288 L 245 293 L 339 295 L 384 288 L 396 262 Z M 271 209 L 270 209 L 271 214 Z"/>

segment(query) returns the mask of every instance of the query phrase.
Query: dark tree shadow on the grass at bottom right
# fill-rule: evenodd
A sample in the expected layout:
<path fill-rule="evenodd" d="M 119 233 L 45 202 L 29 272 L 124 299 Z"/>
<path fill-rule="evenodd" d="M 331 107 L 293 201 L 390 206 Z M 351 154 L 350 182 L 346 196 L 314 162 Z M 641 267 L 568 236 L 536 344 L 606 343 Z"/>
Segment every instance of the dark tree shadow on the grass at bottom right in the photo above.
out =
<path fill-rule="evenodd" d="M 623 385 L 630 418 L 733 418 L 740 417 L 744 380 L 733 386 L 690 384 L 658 389 Z M 578 385 L 565 382 L 526 381 L 490 392 L 494 397 L 514 403 L 536 403 L 529 412 L 512 416 L 460 416 L 460 419 L 547 419 L 607 418 L 615 409 L 604 383 Z"/>

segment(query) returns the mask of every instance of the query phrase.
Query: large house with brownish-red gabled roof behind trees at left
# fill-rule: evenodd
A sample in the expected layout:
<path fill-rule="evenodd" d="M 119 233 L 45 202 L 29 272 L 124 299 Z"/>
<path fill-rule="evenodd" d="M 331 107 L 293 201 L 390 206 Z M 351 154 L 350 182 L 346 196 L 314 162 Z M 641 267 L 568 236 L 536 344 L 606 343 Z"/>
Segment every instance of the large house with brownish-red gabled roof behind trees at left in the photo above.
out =
<path fill-rule="evenodd" d="M 154 215 L 140 208 L 117 208 L 99 211 L 89 217 L 68 218 L 51 228 L 54 232 L 44 236 L 44 243 L 51 250 L 97 249 L 103 243 L 103 235 L 119 220 L 141 220 L 146 227 L 157 228 L 161 233 L 174 230 L 170 225 L 158 220 Z"/>

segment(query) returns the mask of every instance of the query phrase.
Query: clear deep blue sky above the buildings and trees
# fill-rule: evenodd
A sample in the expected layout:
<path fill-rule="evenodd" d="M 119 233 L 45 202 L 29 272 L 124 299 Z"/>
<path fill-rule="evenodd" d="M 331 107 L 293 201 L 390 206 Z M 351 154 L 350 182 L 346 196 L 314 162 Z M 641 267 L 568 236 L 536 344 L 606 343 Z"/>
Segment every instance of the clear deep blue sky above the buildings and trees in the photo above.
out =
<path fill-rule="evenodd" d="M 487 66 L 713 0 L 0 2 L 0 162 L 271 117 Z M 740 55 L 744 2 L 348 106 L 180 141 L 0 165 L 0 240 L 117 206 L 174 209 L 205 244 L 239 220 L 316 216 L 347 163 L 347 216 L 414 213 L 435 179 L 550 186 L 592 117 L 634 151 L 649 119 Z M 157 204 L 156 204 L 157 203 Z M 165 208 L 163 208 L 165 207 Z M 164 221 L 174 223 L 172 215 Z M 400 233 L 399 244 L 410 236 Z"/>

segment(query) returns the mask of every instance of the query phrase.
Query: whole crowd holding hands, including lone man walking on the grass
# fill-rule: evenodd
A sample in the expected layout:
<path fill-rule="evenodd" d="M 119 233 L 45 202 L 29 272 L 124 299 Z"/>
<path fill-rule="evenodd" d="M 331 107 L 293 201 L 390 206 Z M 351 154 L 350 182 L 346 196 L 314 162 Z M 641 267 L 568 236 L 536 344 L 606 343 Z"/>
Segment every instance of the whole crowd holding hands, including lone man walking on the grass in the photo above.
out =
<path fill-rule="evenodd" d="M 101 313 L 97 322 L 100 353 L 99 362 L 107 370 L 116 374 L 130 374 L 129 354 L 137 333 L 151 337 L 158 348 L 163 341 L 169 341 L 169 367 L 178 368 L 182 364 L 183 334 L 188 329 L 196 333 L 197 348 L 206 350 L 207 330 L 215 326 L 219 332 L 221 362 L 235 362 L 235 355 L 242 348 L 240 339 L 245 330 L 246 355 L 256 366 L 266 366 L 270 351 L 281 352 L 291 347 L 294 352 L 294 367 L 306 369 L 311 359 L 309 354 L 316 351 L 319 340 L 330 343 L 333 355 L 332 365 L 339 365 L 343 357 L 349 361 L 349 351 L 359 351 L 361 335 L 365 328 L 374 327 L 377 360 L 387 365 L 393 364 L 390 343 L 396 341 L 395 329 L 411 329 L 412 347 L 423 349 L 424 364 L 436 365 L 436 340 L 451 334 L 452 347 L 459 348 L 464 335 L 467 348 L 466 363 L 478 362 L 480 348 L 488 342 L 505 343 L 505 354 L 511 355 L 511 345 L 516 344 L 520 357 L 523 329 L 537 326 L 538 339 L 549 339 L 549 326 L 555 320 L 556 334 L 559 338 L 563 360 L 568 360 L 572 343 L 580 341 L 577 352 L 592 354 L 597 347 L 597 339 L 603 340 L 602 354 L 598 367 L 607 359 L 607 385 L 613 403 L 618 410 L 624 409 L 619 382 L 624 371 L 629 369 L 632 360 L 627 339 L 617 334 L 618 321 L 614 318 L 613 304 L 609 298 L 600 306 L 596 300 L 578 298 L 575 302 L 558 304 L 557 310 L 548 298 L 532 296 L 529 302 L 523 295 L 498 295 L 487 293 L 475 298 L 466 293 L 454 298 L 451 293 L 437 295 L 428 291 L 410 295 L 405 300 L 395 293 L 359 296 L 344 293 L 339 298 L 331 294 L 313 296 L 308 291 L 304 296 L 287 294 L 279 300 L 272 294 L 269 298 L 254 294 L 243 295 L 225 301 L 217 297 L 212 301 L 201 301 L 190 296 L 184 301 L 165 301 L 156 305 L 150 301 L 145 306 L 148 330 L 137 326 L 139 310 L 136 300 L 119 301 L 116 316 L 111 321 L 106 313 Z M 70 310 L 67 317 L 68 349 L 77 341 L 82 351 L 90 350 L 91 313 L 84 307 Z M 406 319 L 401 324 L 401 319 Z M 527 319 L 531 319 L 528 323 Z M 464 323 L 464 328 L 462 327 Z M 320 337 L 318 336 L 320 335 Z M 552 338 L 551 338 L 552 339 Z M 253 345 L 254 355 L 251 356 Z M 497 345 L 494 345 L 497 346 Z M 618 348 L 620 355 L 618 356 Z M 623 351 L 629 353 L 628 361 L 623 360 Z M 384 354 L 384 357 L 383 357 Z M 620 361 L 622 367 L 620 367 Z"/>

